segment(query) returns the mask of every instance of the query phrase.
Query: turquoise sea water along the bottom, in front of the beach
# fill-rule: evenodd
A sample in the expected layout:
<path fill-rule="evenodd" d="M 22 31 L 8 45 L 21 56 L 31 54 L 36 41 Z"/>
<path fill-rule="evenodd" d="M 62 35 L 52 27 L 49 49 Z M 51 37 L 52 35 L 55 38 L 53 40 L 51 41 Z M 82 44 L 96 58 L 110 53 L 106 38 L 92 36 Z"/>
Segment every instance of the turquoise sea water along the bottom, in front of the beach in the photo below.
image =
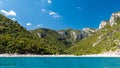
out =
<path fill-rule="evenodd" d="M 120 58 L 0 58 L 0 68 L 120 68 Z"/>

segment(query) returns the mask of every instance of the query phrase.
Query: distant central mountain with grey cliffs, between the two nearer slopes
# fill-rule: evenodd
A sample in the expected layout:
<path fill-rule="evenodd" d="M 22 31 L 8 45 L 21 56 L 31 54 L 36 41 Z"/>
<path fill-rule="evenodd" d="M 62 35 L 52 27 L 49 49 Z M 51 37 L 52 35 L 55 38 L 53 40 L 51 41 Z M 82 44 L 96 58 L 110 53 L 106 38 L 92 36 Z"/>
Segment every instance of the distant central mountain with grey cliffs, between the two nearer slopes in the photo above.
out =
<path fill-rule="evenodd" d="M 51 44 L 51 47 L 54 47 L 54 49 L 58 50 L 59 53 L 62 54 L 66 49 L 73 46 L 74 43 L 91 35 L 94 31 L 94 29 L 90 28 L 84 28 L 82 31 L 73 29 L 55 31 L 46 28 L 30 30 L 34 36 L 47 40 L 48 43 Z"/>

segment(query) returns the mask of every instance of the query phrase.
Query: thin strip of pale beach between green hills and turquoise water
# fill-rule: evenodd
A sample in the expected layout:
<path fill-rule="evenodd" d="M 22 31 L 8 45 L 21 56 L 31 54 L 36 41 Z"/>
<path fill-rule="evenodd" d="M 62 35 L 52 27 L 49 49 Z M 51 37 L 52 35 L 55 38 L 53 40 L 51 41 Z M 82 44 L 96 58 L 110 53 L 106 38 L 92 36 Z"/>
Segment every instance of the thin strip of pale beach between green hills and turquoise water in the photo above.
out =
<path fill-rule="evenodd" d="M 90 55 L 0 54 L 0 57 L 120 57 L 120 55 L 115 55 L 115 54 L 90 54 Z"/>

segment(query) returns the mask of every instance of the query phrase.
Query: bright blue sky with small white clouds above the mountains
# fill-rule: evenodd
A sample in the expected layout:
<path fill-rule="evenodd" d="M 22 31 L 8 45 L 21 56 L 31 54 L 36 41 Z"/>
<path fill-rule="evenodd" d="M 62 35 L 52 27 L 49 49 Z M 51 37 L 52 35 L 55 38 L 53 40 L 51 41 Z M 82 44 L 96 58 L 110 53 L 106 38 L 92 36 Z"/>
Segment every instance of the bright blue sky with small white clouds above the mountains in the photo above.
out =
<path fill-rule="evenodd" d="M 0 13 L 30 29 L 98 28 L 120 0 L 0 0 Z"/>

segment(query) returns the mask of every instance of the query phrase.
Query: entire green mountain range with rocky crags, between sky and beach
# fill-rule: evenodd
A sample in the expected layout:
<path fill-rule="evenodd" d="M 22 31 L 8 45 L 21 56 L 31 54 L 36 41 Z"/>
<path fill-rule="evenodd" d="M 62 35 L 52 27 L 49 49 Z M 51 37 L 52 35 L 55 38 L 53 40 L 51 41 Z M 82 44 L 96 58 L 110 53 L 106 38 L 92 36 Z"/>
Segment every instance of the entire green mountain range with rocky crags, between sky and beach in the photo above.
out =
<path fill-rule="evenodd" d="M 8 54 L 99 54 L 120 50 L 120 12 L 101 21 L 98 29 L 51 30 L 24 27 L 0 14 L 0 53 Z"/>

